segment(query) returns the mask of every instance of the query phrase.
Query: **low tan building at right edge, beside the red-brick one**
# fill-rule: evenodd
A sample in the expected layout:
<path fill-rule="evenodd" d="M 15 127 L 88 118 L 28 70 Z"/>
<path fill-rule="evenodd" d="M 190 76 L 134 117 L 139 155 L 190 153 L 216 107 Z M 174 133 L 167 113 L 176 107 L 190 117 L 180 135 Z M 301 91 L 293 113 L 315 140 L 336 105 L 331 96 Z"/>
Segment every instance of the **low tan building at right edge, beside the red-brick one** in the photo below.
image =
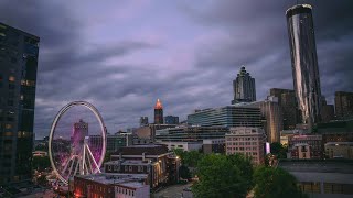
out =
<path fill-rule="evenodd" d="M 353 142 L 328 142 L 324 144 L 328 158 L 351 158 L 353 160 Z"/>

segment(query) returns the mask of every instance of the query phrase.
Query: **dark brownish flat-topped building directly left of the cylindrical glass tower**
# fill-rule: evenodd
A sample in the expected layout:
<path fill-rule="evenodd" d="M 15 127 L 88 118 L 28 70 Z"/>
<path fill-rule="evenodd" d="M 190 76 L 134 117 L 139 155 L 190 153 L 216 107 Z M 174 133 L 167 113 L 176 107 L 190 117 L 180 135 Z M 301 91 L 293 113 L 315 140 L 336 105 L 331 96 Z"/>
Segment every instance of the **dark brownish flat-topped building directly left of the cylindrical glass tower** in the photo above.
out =
<path fill-rule="evenodd" d="M 284 114 L 284 129 L 295 129 L 298 123 L 298 108 L 295 90 L 271 88 L 269 90 L 269 96 L 278 98 L 278 105 Z"/>

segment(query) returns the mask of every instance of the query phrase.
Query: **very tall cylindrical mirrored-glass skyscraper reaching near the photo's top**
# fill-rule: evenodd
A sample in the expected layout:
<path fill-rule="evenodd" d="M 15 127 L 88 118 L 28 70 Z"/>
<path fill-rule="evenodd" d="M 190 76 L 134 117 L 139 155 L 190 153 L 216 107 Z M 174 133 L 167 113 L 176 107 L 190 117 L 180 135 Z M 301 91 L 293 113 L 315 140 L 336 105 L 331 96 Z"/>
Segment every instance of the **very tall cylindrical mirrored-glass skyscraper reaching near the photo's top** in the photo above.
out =
<path fill-rule="evenodd" d="M 321 88 L 310 4 L 287 10 L 293 85 L 301 121 L 309 129 L 320 122 Z"/>

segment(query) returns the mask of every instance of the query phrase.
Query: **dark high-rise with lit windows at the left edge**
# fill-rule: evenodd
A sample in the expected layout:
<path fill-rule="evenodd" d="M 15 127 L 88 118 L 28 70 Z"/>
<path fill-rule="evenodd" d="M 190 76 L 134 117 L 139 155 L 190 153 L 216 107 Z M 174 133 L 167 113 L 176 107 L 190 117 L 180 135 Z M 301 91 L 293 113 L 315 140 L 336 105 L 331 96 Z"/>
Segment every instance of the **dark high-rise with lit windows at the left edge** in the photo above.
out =
<path fill-rule="evenodd" d="M 32 177 L 39 42 L 0 23 L 0 185 Z"/>

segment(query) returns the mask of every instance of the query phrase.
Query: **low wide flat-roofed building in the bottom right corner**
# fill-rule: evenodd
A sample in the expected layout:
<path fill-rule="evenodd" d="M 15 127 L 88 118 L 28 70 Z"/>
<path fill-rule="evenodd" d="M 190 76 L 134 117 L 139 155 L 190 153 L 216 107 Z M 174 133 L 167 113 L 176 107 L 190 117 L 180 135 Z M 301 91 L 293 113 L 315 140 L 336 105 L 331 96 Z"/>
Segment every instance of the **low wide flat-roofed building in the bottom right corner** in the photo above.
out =
<path fill-rule="evenodd" d="M 279 161 L 308 197 L 352 197 L 353 163 L 346 161 Z"/>

